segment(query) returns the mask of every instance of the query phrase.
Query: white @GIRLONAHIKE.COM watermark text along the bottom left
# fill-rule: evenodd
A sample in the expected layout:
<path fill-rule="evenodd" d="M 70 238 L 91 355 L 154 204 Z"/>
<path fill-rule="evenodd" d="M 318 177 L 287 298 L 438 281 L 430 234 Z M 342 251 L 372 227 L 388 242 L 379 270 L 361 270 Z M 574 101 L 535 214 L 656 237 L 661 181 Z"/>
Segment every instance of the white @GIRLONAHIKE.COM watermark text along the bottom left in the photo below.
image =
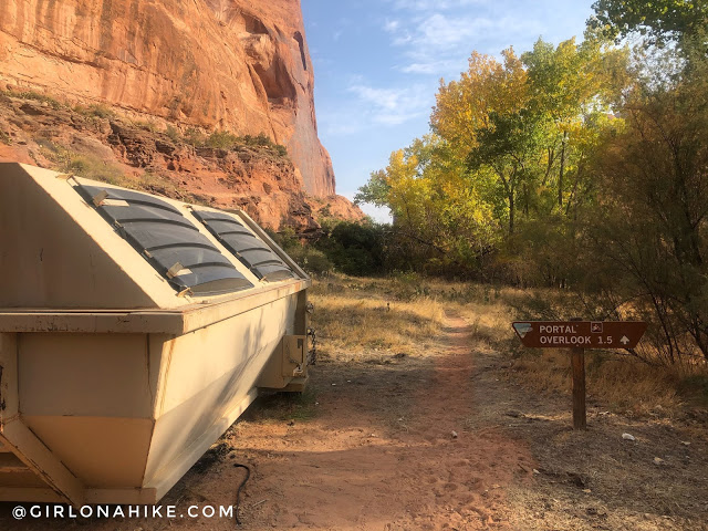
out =
<path fill-rule="evenodd" d="M 22 504 L 12 509 L 15 520 L 24 519 L 81 519 L 81 518 L 228 518 L 233 519 L 233 506 L 72 506 Z"/>

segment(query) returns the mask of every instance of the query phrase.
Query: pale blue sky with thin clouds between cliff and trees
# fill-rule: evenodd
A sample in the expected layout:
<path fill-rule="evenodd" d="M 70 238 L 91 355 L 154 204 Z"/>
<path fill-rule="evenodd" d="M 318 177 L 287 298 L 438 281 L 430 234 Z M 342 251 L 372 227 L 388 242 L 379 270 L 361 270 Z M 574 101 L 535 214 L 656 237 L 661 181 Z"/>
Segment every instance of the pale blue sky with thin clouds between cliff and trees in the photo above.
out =
<path fill-rule="evenodd" d="M 428 132 L 439 80 L 473 50 L 582 38 L 592 0 L 302 0 L 320 138 L 352 198 L 391 152 Z M 365 208 L 378 219 L 385 215 Z"/>

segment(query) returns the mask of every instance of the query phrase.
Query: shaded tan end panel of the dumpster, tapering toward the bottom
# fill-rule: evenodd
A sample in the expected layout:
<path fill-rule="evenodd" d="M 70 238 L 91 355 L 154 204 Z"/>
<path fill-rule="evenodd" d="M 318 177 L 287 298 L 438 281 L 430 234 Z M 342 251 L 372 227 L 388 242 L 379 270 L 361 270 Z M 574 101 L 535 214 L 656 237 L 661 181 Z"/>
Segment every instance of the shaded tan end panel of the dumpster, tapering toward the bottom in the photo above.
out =
<path fill-rule="evenodd" d="M 86 487 L 139 487 L 159 364 L 146 334 L 18 334 L 22 421 Z"/>

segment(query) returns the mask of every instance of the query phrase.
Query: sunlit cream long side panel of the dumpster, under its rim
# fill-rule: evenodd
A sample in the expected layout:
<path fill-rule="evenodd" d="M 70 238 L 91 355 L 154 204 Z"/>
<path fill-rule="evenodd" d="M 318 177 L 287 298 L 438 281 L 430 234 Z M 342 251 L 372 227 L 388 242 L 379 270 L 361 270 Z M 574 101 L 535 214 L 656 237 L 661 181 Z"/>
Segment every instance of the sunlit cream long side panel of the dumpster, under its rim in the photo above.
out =
<path fill-rule="evenodd" d="M 250 404 L 260 372 L 294 330 L 296 304 L 295 293 L 165 344 L 147 486 L 177 481 Z"/>

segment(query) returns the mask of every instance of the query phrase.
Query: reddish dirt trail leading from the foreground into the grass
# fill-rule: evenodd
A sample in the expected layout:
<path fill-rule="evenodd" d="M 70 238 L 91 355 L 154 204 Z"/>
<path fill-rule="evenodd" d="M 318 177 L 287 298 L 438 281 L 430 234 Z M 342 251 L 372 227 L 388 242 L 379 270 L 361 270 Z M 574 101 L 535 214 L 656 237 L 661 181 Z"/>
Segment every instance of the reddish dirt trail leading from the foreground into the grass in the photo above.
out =
<path fill-rule="evenodd" d="M 323 367 L 314 421 L 241 425 L 233 444 L 257 470 L 244 529 L 509 529 L 504 486 L 531 458 L 468 429 L 471 331 L 449 316 L 444 332 L 426 364 L 348 381 Z"/>

